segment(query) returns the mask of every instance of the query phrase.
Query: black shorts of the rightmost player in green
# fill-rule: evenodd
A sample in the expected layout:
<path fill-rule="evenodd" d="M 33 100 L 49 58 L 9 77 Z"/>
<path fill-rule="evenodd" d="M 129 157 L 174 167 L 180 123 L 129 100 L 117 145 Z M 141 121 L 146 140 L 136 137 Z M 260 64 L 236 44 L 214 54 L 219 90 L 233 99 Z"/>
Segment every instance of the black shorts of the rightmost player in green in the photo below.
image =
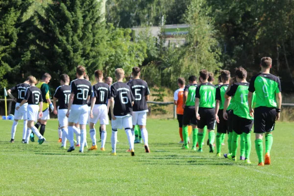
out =
<path fill-rule="evenodd" d="M 269 133 L 274 130 L 276 108 L 257 107 L 254 109 L 254 133 Z"/>

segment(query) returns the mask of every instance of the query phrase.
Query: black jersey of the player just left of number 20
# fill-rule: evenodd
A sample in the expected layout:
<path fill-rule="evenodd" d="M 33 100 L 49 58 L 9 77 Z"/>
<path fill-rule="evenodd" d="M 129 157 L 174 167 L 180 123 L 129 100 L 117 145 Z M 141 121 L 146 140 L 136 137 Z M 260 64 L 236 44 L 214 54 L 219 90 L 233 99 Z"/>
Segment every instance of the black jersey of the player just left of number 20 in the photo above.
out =
<path fill-rule="evenodd" d="M 58 109 L 68 109 L 69 107 L 69 100 L 71 95 L 71 86 L 70 85 L 63 85 L 59 86 L 54 94 L 54 98 L 58 99 Z"/>

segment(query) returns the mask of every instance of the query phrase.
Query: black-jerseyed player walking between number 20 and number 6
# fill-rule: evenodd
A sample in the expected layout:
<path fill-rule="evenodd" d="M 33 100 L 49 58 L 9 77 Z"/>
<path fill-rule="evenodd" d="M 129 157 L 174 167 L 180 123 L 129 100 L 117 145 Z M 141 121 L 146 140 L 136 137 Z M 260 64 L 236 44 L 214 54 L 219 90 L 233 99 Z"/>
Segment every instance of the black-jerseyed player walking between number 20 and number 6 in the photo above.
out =
<path fill-rule="evenodd" d="M 100 70 L 96 70 L 95 79 L 97 84 L 92 87 L 92 99 L 90 108 L 90 136 L 92 139 L 92 147 L 89 150 L 97 150 L 96 143 L 96 129 L 94 125 L 100 121 L 101 128 L 101 151 L 105 151 L 106 142 L 106 125 L 108 122 L 108 109 L 109 109 L 109 99 L 110 99 L 110 89 L 109 86 L 103 82 L 103 73 Z M 108 102 L 108 105 L 107 105 Z"/>

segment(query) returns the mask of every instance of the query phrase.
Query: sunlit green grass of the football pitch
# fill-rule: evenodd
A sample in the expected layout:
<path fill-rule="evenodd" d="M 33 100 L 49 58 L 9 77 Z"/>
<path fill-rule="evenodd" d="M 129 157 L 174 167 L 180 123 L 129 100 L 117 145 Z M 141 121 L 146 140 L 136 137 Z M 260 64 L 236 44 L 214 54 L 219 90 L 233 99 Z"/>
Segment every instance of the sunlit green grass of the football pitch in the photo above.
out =
<path fill-rule="evenodd" d="M 277 123 L 273 133 L 272 164 L 257 167 L 252 134 L 253 165 L 232 163 L 208 153 L 180 150 L 175 120 L 148 120 L 151 153 L 136 145 L 130 157 L 125 132 L 119 130 L 118 156 L 106 152 L 67 153 L 57 143 L 57 121 L 48 122 L 43 145 L 21 144 L 22 122 L 10 144 L 11 121 L 0 121 L 0 195 L 75 196 L 293 196 L 294 123 Z M 87 133 L 88 134 L 88 133 Z M 87 135 L 88 144 L 91 144 Z M 99 137 L 99 135 L 97 136 Z M 226 152 L 227 146 L 222 151 Z M 239 149 L 238 149 L 239 152 Z M 239 154 L 237 154 L 239 155 Z"/>

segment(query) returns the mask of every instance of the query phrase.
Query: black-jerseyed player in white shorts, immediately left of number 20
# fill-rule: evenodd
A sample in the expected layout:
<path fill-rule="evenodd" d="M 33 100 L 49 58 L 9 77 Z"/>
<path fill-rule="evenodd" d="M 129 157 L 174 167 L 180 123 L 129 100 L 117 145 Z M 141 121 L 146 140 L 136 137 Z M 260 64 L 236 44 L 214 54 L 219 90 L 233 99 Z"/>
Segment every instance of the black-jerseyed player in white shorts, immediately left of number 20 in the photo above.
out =
<path fill-rule="evenodd" d="M 61 138 L 62 148 L 66 148 L 66 141 L 68 139 L 68 118 L 66 117 L 66 113 L 68 110 L 71 94 L 71 86 L 69 84 L 70 77 L 67 74 L 62 74 L 60 76 L 60 86 L 56 89 L 53 96 L 53 113 L 55 115 L 57 114 L 59 128 L 61 129 L 61 134 L 59 135 L 59 138 Z M 56 100 L 58 100 L 58 107 L 56 105 Z"/>

